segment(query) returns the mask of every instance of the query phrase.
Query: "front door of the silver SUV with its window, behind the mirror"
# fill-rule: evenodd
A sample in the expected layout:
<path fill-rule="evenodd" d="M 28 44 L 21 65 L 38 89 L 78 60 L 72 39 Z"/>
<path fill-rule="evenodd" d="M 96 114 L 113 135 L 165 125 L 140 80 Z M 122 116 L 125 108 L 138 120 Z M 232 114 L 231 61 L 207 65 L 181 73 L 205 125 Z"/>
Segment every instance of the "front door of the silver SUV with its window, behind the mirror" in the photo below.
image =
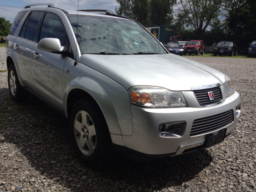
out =
<path fill-rule="evenodd" d="M 69 41 L 62 21 L 56 14 L 46 12 L 39 33 L 43 38 L 58 38 L 64 50 Z M 37 48 L 32 50 L 32 78 L 34 91 L 44 100 L 63 111 L 62 76 L 67 56 L 51 53 Z"/>

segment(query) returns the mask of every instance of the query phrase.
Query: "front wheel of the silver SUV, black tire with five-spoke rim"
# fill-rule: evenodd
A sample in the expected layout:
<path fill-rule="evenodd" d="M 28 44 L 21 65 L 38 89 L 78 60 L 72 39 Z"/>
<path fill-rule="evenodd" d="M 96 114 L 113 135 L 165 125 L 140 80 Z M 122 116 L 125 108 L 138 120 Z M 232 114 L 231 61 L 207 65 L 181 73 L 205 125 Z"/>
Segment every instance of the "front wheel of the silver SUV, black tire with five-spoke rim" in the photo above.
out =
<path fill-rule="evenodd" d="M 98 104 L 81 99 L 74 104 L 70 115 L 70 134 L 78 157 L 87 162 L 109 162 L 114 156 L 108 126 Z"/>

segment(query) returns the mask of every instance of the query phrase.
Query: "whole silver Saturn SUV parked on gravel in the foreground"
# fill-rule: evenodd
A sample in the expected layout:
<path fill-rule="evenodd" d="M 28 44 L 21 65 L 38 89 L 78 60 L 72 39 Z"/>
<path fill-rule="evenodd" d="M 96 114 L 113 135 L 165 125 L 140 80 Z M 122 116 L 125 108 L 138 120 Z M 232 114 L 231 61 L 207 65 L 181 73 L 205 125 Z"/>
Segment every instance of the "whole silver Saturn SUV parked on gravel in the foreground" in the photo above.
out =
<path fill-rule="evenodd" d="M 169 54 L 141 24 L 108 10 L 26 5 L 6 38 L 6 61 L 13 100 L 32 93 L 64 114 L 85 161 L 208 148 L 240 115 L 231 78 Z"/>

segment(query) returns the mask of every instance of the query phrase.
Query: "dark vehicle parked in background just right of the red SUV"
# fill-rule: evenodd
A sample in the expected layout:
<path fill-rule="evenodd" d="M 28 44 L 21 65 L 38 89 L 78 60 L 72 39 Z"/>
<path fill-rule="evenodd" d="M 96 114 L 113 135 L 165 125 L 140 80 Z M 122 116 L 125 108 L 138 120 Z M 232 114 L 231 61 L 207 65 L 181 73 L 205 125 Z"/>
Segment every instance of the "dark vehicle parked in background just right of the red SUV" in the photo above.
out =
<path fill-rule="evenodd" d="M 237 46 L 234 41 L 221 41 L 214 48 L 213 56 L 217 55 L 229 55 L 237 56 Z"/>

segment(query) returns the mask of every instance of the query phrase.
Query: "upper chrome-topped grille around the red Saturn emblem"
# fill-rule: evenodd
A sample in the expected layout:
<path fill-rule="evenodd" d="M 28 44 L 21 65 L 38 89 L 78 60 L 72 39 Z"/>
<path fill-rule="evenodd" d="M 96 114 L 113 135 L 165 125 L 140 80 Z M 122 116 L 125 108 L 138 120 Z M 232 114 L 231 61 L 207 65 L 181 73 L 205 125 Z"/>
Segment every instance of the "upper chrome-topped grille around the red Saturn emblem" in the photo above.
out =
<path fill-rule="evenodd" d="M 208 92 L 212 91 L 214 94 L 214 100 L 210 100 Z M 201 89 L 201 90 L 193 90 L 198 102 L 202 106 L 207 106 L 211 104 L 216 104 L 222 101 L 222 94 L 220 91 L 220 87 L 214 87 L 210 89 Z"/>

